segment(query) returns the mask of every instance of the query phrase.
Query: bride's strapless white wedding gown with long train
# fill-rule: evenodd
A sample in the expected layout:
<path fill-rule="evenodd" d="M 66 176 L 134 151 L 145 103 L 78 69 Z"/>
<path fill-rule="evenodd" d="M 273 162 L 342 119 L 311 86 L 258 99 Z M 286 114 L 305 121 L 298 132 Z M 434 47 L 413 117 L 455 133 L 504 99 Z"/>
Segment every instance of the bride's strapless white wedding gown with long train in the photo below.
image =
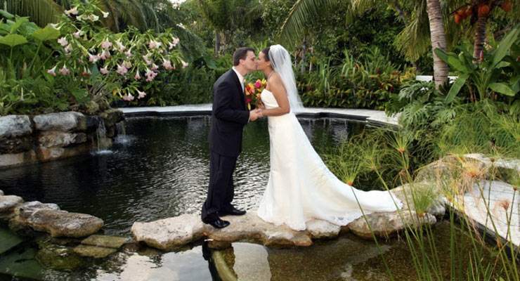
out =
<path fill-rule="evenodd" d="M 264 89 L 266 108 L 278 107 L 273 93 Z M 264 221 L 306 229 L 313 218 L 345 226 L 363 214 L 396 211 L 402 203 L 388 191 L 352 188 L 332 174 L 301 128 L 294 113 L 268 117 L 271 171 L 258 215 Z M 354 194 L 356 196 L 354 196 Z M 392 200 L 394 197 L 394 200 Z"/>

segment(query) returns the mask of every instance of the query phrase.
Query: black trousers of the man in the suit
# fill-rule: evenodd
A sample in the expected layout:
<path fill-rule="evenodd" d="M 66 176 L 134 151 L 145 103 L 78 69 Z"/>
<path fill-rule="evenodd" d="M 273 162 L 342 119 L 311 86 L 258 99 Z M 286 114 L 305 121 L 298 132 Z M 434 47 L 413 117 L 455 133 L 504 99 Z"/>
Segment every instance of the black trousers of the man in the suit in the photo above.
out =
<path fill-rule="evenodd" d="M 214 221 L 219 218 L 217 212 L 231 207 L 231 201 L 235 196 L 233 171 L 235 171 L 237 158 L 211 152 L 209 156 L 209 187 L 206 202 L 202 205 L 202 221 Z"/>

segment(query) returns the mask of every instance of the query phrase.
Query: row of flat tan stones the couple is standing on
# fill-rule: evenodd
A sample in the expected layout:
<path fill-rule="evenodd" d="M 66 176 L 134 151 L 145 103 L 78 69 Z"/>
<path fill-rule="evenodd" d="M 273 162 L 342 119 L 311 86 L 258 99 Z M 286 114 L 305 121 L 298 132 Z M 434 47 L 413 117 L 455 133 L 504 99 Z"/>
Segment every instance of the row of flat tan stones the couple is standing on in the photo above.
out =
<path fill-rule="evenodd" d="M 415 212 L 399 212 L 401 214 L 398 212 L 369 214 L 367 220 L 378 237 L 388 237 L 398 231 L 416 228 L 425 223 L 436 223 L 435 216 L 431 214 L 422 214 L 419 220 L 414 220 Z M 202 223 L 198 215 L 183 214 L 148 223 L 136 222 L 131 228 L 131 233 L 137 242 L 168 251 L 202 238 L 216 245 L 242 241 L 272 247 L 308 247 L 313 244 L 313 239 L 334 238 L 349 230 L 360 237 L 368 237 L 369 229 L 363 217 L 347 226 L 312 220 L 308 221 L 307 229 L 304 231 L 267 223 L 256 215 L 256 210 L 248 211 L 244 216 L 226 216 L 223 219 L 229 221 L 230 226 L 216 229 Z"/>

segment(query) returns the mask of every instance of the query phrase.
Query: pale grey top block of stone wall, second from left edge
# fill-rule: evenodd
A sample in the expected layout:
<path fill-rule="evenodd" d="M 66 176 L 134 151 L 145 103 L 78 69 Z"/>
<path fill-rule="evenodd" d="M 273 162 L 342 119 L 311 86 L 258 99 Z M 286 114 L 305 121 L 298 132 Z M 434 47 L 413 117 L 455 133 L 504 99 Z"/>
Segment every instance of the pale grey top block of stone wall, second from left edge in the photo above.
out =
<path fill-rule="evenodd" d="M 33 118 L 39 131 L 85 131 L 86 117 L 79 112 L 58 112 Z"/>

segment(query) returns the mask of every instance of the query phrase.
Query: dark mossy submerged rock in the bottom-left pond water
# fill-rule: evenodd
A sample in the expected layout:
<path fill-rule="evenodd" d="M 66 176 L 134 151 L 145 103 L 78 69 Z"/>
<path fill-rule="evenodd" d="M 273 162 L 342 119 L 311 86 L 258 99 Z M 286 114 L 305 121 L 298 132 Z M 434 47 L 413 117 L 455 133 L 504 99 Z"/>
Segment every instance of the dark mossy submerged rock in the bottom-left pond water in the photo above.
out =
<path fill-rule="evenodd" d="M 55 270 L 74 270 L 85 265 L 83 259 L 69 247 L 56 244 L 39 243 L 40 249 L 35 258 L 42 266 Z"/>

